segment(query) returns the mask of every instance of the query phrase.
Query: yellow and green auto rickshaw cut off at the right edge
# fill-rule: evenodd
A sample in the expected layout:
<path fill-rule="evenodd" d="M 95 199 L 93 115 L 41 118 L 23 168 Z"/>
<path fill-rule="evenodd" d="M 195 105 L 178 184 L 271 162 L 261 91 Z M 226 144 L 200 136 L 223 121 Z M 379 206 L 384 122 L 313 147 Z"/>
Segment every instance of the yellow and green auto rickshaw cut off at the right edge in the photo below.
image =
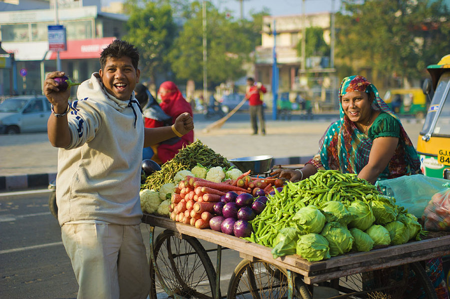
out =
<path fill-rule="evenodd" d="M 422 173 L 450 179 L 450 54 L 427 66 L 423 93 L 432 99 L 417 141 Z"/>

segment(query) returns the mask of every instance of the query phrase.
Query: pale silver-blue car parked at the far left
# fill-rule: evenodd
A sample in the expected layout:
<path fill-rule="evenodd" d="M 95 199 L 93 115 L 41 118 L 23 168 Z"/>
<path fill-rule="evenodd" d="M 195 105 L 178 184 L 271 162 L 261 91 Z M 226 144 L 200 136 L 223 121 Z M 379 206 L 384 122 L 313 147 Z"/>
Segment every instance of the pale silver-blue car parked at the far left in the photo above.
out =
<path fill-rule="evenodd" d="M 20 95 L 0 103 L 0 133 L 45 132 L 50 103 L 43 95 Z"/>

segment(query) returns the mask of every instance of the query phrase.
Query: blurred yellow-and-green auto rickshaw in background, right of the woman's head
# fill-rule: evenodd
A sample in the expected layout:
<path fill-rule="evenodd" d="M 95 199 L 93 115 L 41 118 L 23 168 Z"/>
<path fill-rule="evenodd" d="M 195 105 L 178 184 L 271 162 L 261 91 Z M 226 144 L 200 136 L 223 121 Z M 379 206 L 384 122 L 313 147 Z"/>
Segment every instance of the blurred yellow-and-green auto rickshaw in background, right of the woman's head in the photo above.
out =
<path fill-rule="evenodd" d="M 383 100 L 397 115 L 425 116 L 426 98 L 421 88 L 390 89 Z"/>

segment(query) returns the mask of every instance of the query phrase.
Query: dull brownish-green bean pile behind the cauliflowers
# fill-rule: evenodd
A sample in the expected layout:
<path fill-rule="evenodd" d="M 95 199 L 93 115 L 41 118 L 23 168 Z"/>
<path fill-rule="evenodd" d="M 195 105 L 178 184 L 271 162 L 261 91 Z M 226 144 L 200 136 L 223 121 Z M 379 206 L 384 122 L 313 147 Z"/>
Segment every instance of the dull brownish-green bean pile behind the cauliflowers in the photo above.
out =
<path fill-rule="evenodd" d="M 145 184 L 141 185 L 141 189 L 159 190 L 165 183 L 173 182 L 173 177 L 178 171 L 191 170 L 197 163 L 206 168 L 230 167 L 228 160 L 197 140 L 180 149 L 173 159 L 162 164 L 161 170 L 149 175 L 145 179 Z"/>

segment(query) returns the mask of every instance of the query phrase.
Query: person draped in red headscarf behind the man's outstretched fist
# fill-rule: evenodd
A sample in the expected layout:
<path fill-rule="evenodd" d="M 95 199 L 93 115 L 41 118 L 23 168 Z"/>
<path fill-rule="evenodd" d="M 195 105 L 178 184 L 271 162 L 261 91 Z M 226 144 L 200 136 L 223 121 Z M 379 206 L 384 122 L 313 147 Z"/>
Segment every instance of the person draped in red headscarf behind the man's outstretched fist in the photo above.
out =
<path fill-rule="evenodd" d="M 184 99 L 181 92 L 172 81 L 165 81 L 159 86 L 158 97 L 161 99 L 159 106 L 165 114 L 169 115 L 172 119 L 170 125 L 173 124 L 178 115 L 188 112 L 190 116 L 192 114 L 192 108 L 190 104 Z M 145 111 L 144 111 L 145 113 Z M 162 121 L 157 121 L 151 118 L 144 118 L 144 125 L 146 128 L 162 127 L 165 124 Z M 193 131 L 181 136 L 174 137 L 152 147 L 155 152 L 152 160 L 158 164 L 164 164 L 168 160 L 171 160 L 183 146 L 193 142 Z"/>

